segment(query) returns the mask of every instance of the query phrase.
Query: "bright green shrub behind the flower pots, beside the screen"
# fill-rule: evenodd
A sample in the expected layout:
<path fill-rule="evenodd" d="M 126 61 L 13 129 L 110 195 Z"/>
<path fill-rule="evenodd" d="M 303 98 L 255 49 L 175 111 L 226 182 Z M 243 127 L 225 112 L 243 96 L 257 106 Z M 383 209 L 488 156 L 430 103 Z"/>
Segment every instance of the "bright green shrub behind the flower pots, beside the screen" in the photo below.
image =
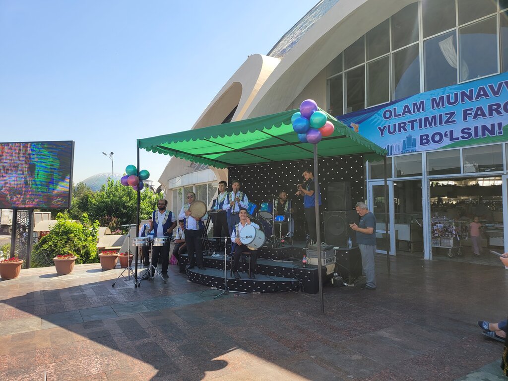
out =
<path fill-rule="evenodd" d="M 99 262 L 97 241 L 99 221 L 90 223 L 88 215 L 83 213 L 81 224 L 69 218 L 67 212 L 58 213 L 57 223 L 48 235 L 34 245 L 31 255 L 32 267 L 52 266 L 57 255 L 73 254 L 76 263 Z"/>

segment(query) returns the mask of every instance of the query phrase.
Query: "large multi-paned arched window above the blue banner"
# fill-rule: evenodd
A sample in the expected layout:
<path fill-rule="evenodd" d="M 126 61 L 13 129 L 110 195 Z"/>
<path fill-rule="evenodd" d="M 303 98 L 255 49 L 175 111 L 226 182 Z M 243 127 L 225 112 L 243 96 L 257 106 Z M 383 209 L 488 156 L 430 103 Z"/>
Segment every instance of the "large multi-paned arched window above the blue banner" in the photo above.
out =
<path fill-rule="evenodd" d="M 508 0 L 409 4 L 329 63 L 328 110 L 338 116 L 508 71 L 507 8 Z"/>

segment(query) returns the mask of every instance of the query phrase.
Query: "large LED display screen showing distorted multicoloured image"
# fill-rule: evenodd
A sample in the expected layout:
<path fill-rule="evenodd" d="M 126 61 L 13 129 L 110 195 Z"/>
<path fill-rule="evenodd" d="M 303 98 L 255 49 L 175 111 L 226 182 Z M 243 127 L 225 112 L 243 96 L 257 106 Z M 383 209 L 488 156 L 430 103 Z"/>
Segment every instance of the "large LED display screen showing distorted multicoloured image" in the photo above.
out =
<path fill-rule="evenodd" d="M 70 208 L 74 142 L 0 143 L 0 208 Z"/>

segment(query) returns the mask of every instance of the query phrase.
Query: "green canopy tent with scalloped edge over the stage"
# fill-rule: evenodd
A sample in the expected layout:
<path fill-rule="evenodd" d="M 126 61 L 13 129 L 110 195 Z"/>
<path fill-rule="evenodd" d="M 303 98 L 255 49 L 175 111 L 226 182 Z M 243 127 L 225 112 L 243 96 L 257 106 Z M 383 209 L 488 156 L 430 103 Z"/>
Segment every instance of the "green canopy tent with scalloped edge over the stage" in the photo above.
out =
<path fill-rule="evenodd" d="M 215 168 L 313 158 L 313 145 L 300 142 L 293 130 L 291 117 L 297 111 L 299 110 L 283 111 L 196 130 L 138 139 L 138 168 L 139 149 L 175 156 Z M 384 160 L 386 173 L 387 151 L 385 149 L 354 132 L 328 113 L 326 114 L 328 120 L 334 124 L 335 131 L 317 144 L 318 159 L 363 154 L 368 161 Z M 317 168 L 316 163 L 314 165 Z M 386 191 L 385 199 L 387 199 Z M 388 231 L 388 216 L 385 216 L 385 220 L 386 231 Z M 390 271 L 388 250 L 387 260 Z"/>

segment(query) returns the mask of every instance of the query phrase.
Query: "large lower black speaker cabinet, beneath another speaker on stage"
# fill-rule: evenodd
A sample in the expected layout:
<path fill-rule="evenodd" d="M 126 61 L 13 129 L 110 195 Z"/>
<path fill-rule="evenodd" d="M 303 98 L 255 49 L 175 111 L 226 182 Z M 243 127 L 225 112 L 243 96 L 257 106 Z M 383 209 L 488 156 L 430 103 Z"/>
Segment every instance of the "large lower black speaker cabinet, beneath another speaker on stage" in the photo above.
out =
<path fill-rule="evenodd" d="M 351 237 L 353 246 L 356 246 L 356 233 L 349 224 L 358 224 L 359 217 L 356 210 L 339 212 L 324 212 L 325 215 L 325 241 L 329 245 L 347 247 L 347 238 Z"/>

